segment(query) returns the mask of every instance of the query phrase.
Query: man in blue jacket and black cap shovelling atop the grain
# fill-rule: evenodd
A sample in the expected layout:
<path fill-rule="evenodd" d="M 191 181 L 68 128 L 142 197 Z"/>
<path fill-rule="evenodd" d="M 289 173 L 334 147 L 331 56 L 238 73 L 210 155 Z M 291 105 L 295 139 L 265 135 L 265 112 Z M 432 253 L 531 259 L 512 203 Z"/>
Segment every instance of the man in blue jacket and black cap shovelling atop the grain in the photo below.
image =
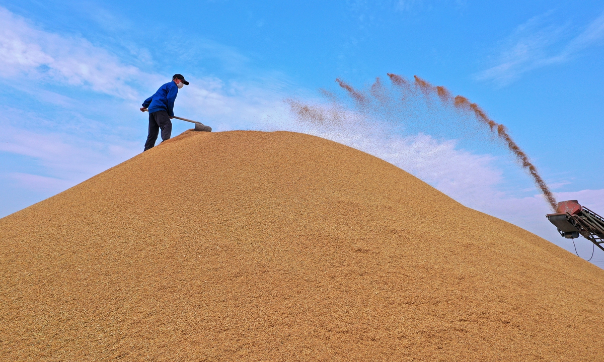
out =
<path fill-rule="evenodd" d="M 178 90 L 184 85 L 188 86 L 188 81 L 181 74 L 175 74 L 170 83 L 165 83 L 159 87 L 154 95 L 143 102 L 141 112 L 149 109 L 149 136 L 145 142 L 145 151 L 155 146 L 155 141 L 161 129 L 161 140 L 170 139 L 172 135 L 172 122 L 174 112 L 174 101 Z"/>

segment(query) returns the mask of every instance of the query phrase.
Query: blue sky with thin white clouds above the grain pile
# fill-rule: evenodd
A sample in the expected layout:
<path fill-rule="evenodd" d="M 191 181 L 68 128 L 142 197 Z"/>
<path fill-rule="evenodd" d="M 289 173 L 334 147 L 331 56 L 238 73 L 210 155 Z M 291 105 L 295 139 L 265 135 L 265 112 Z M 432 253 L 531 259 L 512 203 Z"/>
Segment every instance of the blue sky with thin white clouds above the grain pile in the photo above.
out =
<path fill-rule="evenodd" d="M 419 75 L 505 124 L 560 200 L 603 214 L 603 59 L 597 1 L 0 1 L 0 217 L 140 153 L 138 107 L 178 72 L 191 85 L 176 115 L 352 145 L 573 250 L 501 147 L 432 134 L 425 120 L 392 133 L 363 119 L 362 137 L 303 127 L 283 100 L 321 103 L 336 77 L 364 88 Z"/>

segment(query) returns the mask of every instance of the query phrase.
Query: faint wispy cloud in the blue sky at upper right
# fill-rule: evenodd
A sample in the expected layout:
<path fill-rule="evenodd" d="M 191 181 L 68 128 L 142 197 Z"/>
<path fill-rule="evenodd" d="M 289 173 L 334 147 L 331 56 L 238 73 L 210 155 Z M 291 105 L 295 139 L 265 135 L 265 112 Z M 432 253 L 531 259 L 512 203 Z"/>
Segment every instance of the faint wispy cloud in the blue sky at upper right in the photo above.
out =
<path fill-rule="evenodd" d="M 475 74 L 477 80 L 505 86 L 522 74 L 546 66 L 569 62 L 604 40 L 604 12 L 575 36 L 568 25 L 548 24 L 551 13 L 529 19 L 503 42 L 495 65 Z"/>

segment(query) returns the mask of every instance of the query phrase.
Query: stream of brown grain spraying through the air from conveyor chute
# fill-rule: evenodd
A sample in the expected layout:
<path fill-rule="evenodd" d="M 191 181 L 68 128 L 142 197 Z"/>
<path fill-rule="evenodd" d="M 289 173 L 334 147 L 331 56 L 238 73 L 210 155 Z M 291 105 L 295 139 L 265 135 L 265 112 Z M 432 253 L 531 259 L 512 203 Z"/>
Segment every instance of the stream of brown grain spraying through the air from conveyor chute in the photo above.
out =
<path fill-rule="evenodd" d="M 478 124 L 486 125 L 490 135 L 493 136 L 497 143 L 501 142 L 515 157 L 522 170 L 526 171 L 532 177 L 533 182 L 544 195 L 548 205 L 556 211 L 557 203 L 554 195 L 527 154 L 512 139 L 506 127 L 493 121 L 478 104 L 472 103 L 461 95 L 454 97 L 445 87 L 432 86 L 428 81 L 417 76 L 414 76 L 413 81 L 392 73 L 388 73 L 388 77 L 393 88 L 387 87 L 380 78 L 376 78 L 376 81 L 367 90 L 356 89 L 341 78 L 337 78 L 336 83 L 345 91 L 349 98 L 341 99 L 336 94 L 321 89 L 322 95 L 329 101 L 327 105 L 312 104 L 292 99 L 286 100 L 286 102 L 291 106 L 291 110 L 298 121 L 338 130 L 342 129 L 342 125 L 344 127 L 359 127 L 366 130 L 368 122 L 362 122 L 360 121 L 361 119 L 381 118 L 390 123 L 393 122 L 393 119 L 396 122 L 410 122 L 410 118 L 402 116 L 403 113 L 417 112 L 418 109 L 423 113 L 433 112 L 434 107 L 432 109 L 430 107 L 432 100 L 438 99 L 445 109 L 454 109 L 458 113 L 465 115 L 466 118 L 467 115 L 471 115 L 472 118 L 477 119 Z M 416 102 L 418 98 L 423 98 L 428 107 L 418 106 Z M 351 110 L 351 107 L 347 107 L 350 101 L 352 101 L 353 110 Z M 440 125 L 434 125 L 439 122 Z M 447 119 L 443 119 L 442 117 L 432 117 L 429 122 L 416 123 L 419 123 L 414 125 L 419 132 L 425 132 L 424 128 L 428 128 L 429 132 L 429 127 L 442 127 L 443 129 L 457 127 L 460 129 L 460 132 L 463 132 L 461 129 L 464 127 L 461 123 L 448 122 Z M 475 126 L 471 125 L 470 127 Z M 472 138 L 477 139 L 477 136 L 473 135 Z"/>

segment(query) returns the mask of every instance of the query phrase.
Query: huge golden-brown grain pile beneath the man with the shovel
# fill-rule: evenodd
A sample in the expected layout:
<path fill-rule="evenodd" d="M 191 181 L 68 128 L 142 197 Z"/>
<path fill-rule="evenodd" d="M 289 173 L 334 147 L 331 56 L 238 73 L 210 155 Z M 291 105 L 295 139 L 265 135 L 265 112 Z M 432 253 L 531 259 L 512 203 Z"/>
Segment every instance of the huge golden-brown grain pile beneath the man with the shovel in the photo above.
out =
<path fill-rule="evenodd" d="M 289 132 L 185 132 L 0 220 L 3 361 L 603 360 L 604 271 Z"/>

